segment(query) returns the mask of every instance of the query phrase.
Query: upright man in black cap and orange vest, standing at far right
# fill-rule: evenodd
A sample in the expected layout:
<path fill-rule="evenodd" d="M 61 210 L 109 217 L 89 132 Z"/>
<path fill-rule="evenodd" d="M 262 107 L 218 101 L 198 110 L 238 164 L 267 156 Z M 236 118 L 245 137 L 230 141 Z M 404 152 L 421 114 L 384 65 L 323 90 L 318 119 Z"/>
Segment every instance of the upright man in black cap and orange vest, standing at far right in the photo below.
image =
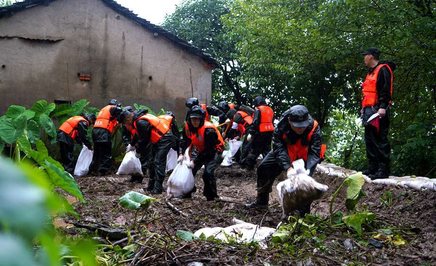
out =
<path fill-rule="evenodd" d="M 365 126 L 366 157 L 369 169 L 363 171 L 371 179 L 388 178 L 390 168 L 389 106 L 392 97 L 392 72 L 396 66 L 390 61 L 380 61 L 380 51 L 368 48 L 364 53 L 364 62 L 369 67 L 362 84 L 362 121 Z M 378 113 L 371 123 L 368 119 Z"/>

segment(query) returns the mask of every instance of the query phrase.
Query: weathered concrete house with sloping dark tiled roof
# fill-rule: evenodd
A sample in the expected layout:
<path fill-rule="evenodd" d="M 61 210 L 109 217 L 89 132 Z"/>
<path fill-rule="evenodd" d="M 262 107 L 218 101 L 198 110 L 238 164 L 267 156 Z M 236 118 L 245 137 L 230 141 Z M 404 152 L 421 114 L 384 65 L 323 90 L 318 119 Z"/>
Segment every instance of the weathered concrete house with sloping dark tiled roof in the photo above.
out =
<path fill-rule="evenodd" d="M 0 114 L 11 104 L 88 99 L 186 114 L 210 103 L 217 62 L 113 0 L 25 0 L 0 8 Z"/>

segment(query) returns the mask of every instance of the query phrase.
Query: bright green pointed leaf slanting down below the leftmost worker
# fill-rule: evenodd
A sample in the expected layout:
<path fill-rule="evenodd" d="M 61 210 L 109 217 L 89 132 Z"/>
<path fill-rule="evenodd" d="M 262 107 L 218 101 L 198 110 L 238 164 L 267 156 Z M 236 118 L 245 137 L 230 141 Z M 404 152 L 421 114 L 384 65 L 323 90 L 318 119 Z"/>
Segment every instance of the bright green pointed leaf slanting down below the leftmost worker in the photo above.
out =
<path fill-rule="evenodd" d="M 50 163 L 47 159 L 44 161 L 44 167 L 46 168 L 51 181 L 57 187 L 69 192 L 73 196 L 77 197 L 80 201 L 84 202 L 80 188 L 70 174 L 63 171 L 63 169 L 59 168 L 57 165 Z"/>

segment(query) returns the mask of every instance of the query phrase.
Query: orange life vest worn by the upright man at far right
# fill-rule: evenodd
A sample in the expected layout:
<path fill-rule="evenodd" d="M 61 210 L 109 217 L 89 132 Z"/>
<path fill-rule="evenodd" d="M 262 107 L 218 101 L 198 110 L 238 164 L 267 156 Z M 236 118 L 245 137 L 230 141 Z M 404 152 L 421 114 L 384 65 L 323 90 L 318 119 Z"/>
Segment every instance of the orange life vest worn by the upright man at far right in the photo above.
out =
<path fill-rule="evenodd" d="M 377 78 L 378 74 L 380 73 L 380 69 L 383 66 L 386 66 L 390 72 L 390 95 L 392 96 L 392 71 L 390 70 L 388 64 L 380 64 L 374 69 L 372 73 L 366 75 L 365 82 L 362 83 L 362 107 L 374 106 L 374 104 L 378 103 Z M 389 101 L 389 104 L 391 102 L 392 101 Z"/>

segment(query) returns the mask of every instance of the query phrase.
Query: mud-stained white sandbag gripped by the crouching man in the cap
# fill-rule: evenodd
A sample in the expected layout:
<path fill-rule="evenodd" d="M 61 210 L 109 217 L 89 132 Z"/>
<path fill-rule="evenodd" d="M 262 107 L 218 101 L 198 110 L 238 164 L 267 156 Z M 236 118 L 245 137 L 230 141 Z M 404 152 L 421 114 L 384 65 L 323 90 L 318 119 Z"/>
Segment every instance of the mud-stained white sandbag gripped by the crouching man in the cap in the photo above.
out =
<path fill-rule="evenodd" d="M 277 184 L 283 218 L 290 212 L 321 198 L 328 189 L 326 185 L 316 182 L 315 179 L 307 175 L 303 160 L 294 161 L 292 165 L 296 174 Z"/>

